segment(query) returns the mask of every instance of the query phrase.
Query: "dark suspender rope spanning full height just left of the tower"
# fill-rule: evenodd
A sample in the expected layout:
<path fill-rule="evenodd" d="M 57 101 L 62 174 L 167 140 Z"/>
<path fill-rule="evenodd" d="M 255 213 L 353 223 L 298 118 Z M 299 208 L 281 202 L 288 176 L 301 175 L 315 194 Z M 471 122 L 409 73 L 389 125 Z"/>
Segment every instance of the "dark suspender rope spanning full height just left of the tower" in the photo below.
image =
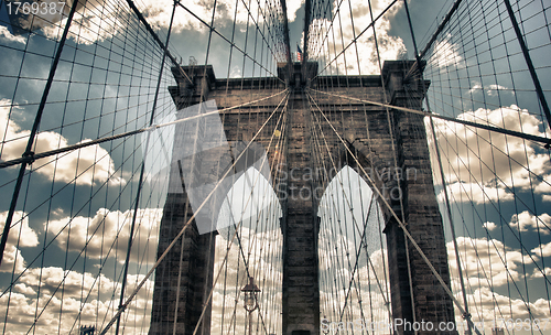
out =
<path fill-rule="evenodd" d="M 151 118 L 149 120 L 149 126 L 151 127 L 153 125 L 153 121 L 155 119 L 155 109 L 156 109 L 156 100 L 159 98 L 159 90 L 161 87 L 161 80 L 163 77 L 163 69 L 164 69 L 164 62 L 166 60 L 166 54 L 168 54 L 168 48 L 169 48 L 169 42 L 170 42 L 170 36 L 171 36 L 171 31 L 172 31 L 172 23 L 174 21 L 174 12 L 176 10 L 176 1 L 174 1 L 174 4 L 172 7 L 172 15 L 171 15 L 171 22 L 169 25 L 169 32 L 166 33 L 166 43 L 164 44 L 164 51 L 163 51 L 163 57 L 161 61 L 161 67 L 159 68 L 159 77 L 156 80 L 156 88 L 155 88 L 155 97 L 153 99 L 153 107 L 151 109 Z M 134 235 L 134 228 L 136 228 L 136 220 L 138 218 L 138 207 L 140 205 L 140 195 L 141 195 L 141 190 L 142 190 L 142 184 L 143 184 L 143 175 L 145 173 L 145 160 L 148 158 L 148 147 L 149 142 L 151 140 L 151 131 L 148 132 L 148 138 L 145 141 L 145 151 L 143 153 L 143 159 L 141 163 L 141 170 L 140 170 L 140 179 L 138 182 L 138 191 L 136 193 L 136 201 L 134 201 L 134 212 L 132 215 L 132 224 L 130 226 L 130 236 L 128 238 L 128 248 L 127 248 L 127 258 L 125 260 L 125 272 L 122 274 L 122 285 L 120 289 L 120 299 L 119 299 L 119 310 L 122 309 L 122 304 L 125 302 L 125 289 L 127 285 L 127 274 L 128 274 L 128 267 L 130 262 L 130 251 L 132 249 L 132 240 L 133 240 L 133 235 Z M 115 335 L 119 334 L 119 327 L 120 327 L 120 316 L 121 314 L 118 315 L 117 317 L 117 326 L 115 327 Z"/>

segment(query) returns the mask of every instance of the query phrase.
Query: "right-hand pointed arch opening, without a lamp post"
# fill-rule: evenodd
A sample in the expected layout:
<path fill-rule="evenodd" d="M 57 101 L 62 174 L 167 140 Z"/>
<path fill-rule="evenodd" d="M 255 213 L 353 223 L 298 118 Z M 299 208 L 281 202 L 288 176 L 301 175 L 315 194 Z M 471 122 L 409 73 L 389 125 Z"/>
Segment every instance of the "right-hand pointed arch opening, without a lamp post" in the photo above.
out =
<path fill-rule="evenodd" d="M 321 329 L 335 333 L 344 326 L 360 334 L 366 326 L 389 324 L 385 221 L 377 195 L 345 165 L 327 184 L 317 215 Z"/>

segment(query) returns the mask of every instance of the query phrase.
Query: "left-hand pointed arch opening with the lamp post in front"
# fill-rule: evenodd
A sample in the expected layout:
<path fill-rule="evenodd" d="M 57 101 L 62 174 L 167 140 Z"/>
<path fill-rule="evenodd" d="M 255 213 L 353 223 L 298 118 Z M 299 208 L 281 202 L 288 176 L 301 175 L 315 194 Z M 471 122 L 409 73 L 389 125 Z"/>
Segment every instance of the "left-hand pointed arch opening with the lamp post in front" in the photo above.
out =
<path fill-rule="evenodd" d="M 270 182 L 255 166 L 228 190 L 216 227 L 210 334 L 247 332 L 281 334 L 282 247 L 281 205 Z M 260 292 L 250 314 L 242 289 L 249 277 Z"/>

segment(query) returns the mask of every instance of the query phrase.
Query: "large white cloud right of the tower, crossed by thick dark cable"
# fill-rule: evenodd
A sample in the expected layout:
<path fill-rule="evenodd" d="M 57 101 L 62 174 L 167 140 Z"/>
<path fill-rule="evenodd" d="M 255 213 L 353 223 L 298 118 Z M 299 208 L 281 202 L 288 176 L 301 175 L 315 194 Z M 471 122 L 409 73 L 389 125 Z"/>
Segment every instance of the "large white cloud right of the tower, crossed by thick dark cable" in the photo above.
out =
<path fill-rule="evenodd" d="M 544 137 L 541 121 L 515 105 L 494 110 L 479 108 L 457 119 Z M 549 155 L 530 141 L 434 119 L 449 192 L 456 202 L 503 201 L 516 192 L 551 192 Z M 429 137 L 432 142 L 432 137 Z M 433 169 L 439 170 L 435 156 Z M 449 163 L 447 163 L 449 162 Z M 436 179 L 439 180 L 439 179 Z M 442 196 L 443 194 L 441 194 Z"/>

